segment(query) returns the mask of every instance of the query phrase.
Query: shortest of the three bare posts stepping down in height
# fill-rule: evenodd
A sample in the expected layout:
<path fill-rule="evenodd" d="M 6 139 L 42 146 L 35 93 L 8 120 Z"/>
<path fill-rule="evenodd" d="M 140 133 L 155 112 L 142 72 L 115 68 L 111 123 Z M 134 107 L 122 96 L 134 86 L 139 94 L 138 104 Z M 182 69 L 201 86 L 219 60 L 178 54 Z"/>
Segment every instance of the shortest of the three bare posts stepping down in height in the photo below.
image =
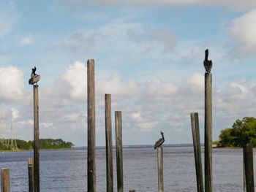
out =
<path fill-rule="evenodd" d="M 122 121 L 121 111 L 115 112 L 116 121 L 116 174 L 117 174 L 117 192 L 124 192 L 123 176 L 123 144 L 122 144 Z"/>

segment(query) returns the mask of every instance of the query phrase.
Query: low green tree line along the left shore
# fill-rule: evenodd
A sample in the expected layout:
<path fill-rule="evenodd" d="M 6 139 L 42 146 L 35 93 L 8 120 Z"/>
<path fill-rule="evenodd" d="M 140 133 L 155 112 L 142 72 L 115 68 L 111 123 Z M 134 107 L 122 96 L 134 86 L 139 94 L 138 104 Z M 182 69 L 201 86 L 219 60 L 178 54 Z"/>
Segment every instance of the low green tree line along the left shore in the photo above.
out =
<path fill-rule="evenodd" d="M 17 150 L 31 150 L 34 147 L 34 141 L 26 142 L 21 139 L 15 139 L 15 142 L 17 144 Z M 39 139 L 39 148 L 42 150 L 70 149 L 74 146 L 72 142 L 65 142 L 62 139 Z M 9 139 L 1 139 L 0 150 L 12 150 Z"/>

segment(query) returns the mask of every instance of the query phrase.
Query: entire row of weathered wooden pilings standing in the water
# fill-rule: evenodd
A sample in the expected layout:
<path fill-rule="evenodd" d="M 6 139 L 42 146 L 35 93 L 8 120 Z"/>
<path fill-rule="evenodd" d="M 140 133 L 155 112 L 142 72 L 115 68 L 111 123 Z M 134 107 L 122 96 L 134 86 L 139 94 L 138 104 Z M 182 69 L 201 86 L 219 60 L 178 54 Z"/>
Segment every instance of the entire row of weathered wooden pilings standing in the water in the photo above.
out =
<path fill-rule="evenodd" d="M 208 58 L 207 58 L 208 60 Z M 200 152 L 200 131 L 198 113 L 190 114 L 192 137 L 195 153 L 197 192 L 213 191 L 212 183 L 212 75 L 211 69 L 205 74 L 205 188 L 203 188 L 203 170 Z M 87 99 L 88 99 L 88 148 L 87 148 L 87 191 L 96 192 L 95 162 L 95 72 L 94 60 L 87 61 Z M 107 192 L 113 192 L 113 146 L 112 146 L 111 95 L 105 94 L 105 139 L 106 139 L 106 179 Z M 122 158 L 121 111 L 115 112 L 116 126 L 116 171 L 118 192 L 124 191 Z M 163 156 L 162 147 L 157 148 L 158 191 L 163 192 Z M 244 180 L 247 192 L 253 192 L 253 151 L 252 145 L 244 145 Z M 29 158 L 29 192 L 39 192 L 39 109 L 38 85 L 34 85 L 34 159 Z M 10 192 L 10 170 L 1 169 L 1 191 Z M 132 191 L 130 191 L 132 192 Z"/>

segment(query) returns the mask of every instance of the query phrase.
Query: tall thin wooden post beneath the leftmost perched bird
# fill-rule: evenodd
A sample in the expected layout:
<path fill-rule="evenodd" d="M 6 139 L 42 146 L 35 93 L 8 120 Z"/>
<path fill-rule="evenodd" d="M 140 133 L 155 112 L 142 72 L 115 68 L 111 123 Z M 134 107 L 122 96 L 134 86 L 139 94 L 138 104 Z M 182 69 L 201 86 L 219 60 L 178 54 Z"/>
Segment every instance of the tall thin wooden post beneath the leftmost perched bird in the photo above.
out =
<path fill-rule="evenodd" d="M 40 191 L 39 183 L 39 107 L 38 85 L 34 86 L 34 191 Z"/>

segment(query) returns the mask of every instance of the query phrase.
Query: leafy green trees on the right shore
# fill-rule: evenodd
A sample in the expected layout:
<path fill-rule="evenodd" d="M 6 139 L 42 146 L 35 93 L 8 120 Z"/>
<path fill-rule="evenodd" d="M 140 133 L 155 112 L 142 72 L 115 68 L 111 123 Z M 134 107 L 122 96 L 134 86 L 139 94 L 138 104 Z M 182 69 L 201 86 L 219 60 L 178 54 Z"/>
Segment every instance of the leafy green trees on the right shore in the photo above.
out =
<path fill-rule="evenodd" d="M 236 120 L 232 128 L 220 132 L 219 139 L 219 147 L 242 147 L 246 143 L 256 147 L 256 119 L 245 117 Z"/>

